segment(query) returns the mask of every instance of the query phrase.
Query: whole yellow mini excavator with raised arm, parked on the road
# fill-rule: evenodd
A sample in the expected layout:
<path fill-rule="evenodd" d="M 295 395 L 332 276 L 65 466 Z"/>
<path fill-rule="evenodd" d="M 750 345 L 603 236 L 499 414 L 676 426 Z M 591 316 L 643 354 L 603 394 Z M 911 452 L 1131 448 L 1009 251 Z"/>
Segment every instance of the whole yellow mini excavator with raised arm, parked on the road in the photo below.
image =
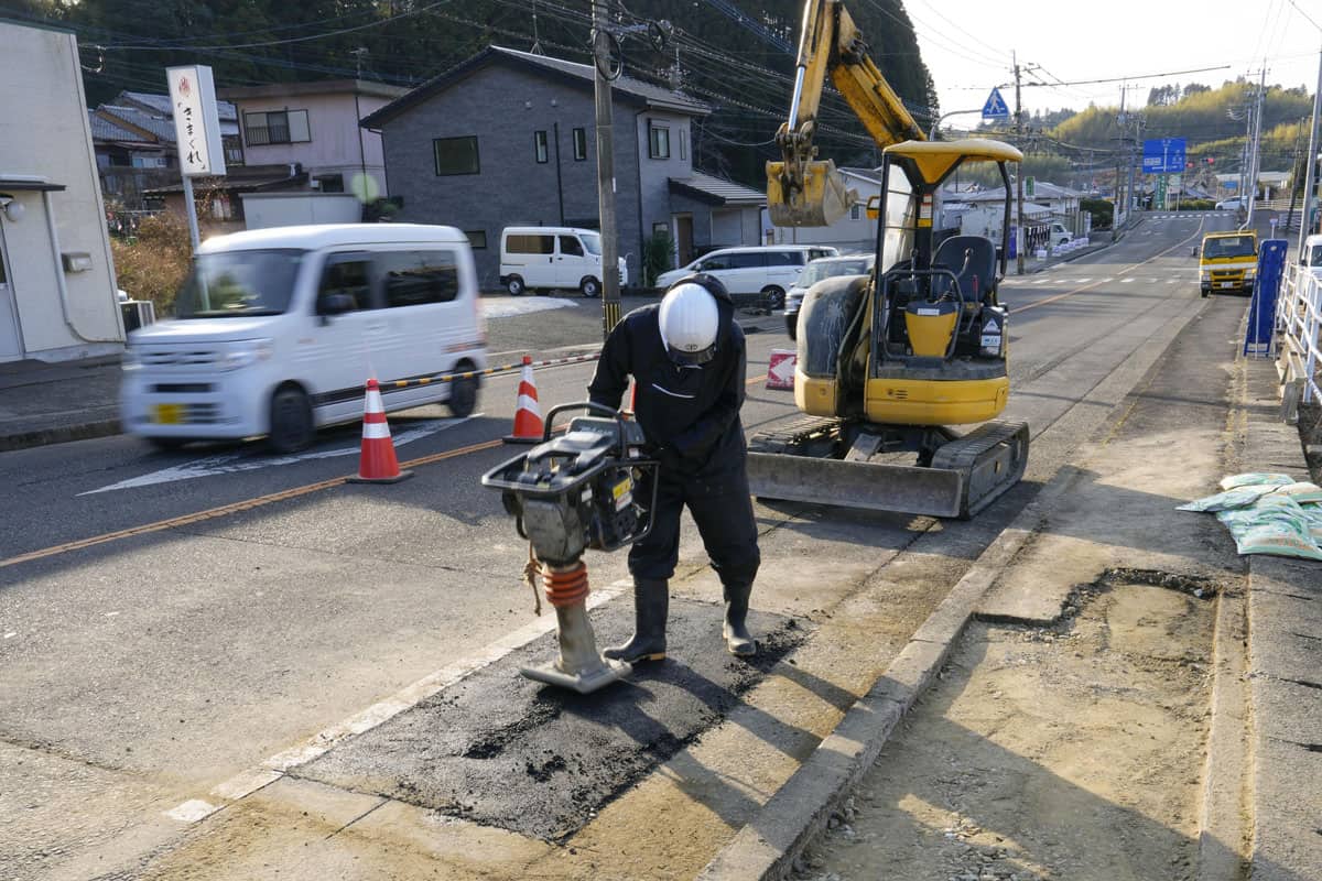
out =
<path fill-rule="evenodd" d="M 826 279 L 804 297 L 795 403 L 806 419 L 750 440 L 750 485 L 763 498 L 966 518 L 1014 486 L 1029 456 L 1026 424 L 988 421 L 1010 391 L 997 285 L 1006 166 L 1023 157 L 992 140 L 925 140 L 839 0 L 808 0 L 789 120 L 776 135 L 784 159 L 767 164 L 776 225 L 826 226 L 855 198 L 813 147 L 828 73 L 883 147 L 880 197 L 867 206 L 876 262 L 867 277 Z M 1005 184 L 1001 242 L 953 235 L 933 247 L 941 184 L 988 162 Z M 973 424 L 962 436 L 949 428 Z M 916 462 L 900 464 L 902 453 Z"/>

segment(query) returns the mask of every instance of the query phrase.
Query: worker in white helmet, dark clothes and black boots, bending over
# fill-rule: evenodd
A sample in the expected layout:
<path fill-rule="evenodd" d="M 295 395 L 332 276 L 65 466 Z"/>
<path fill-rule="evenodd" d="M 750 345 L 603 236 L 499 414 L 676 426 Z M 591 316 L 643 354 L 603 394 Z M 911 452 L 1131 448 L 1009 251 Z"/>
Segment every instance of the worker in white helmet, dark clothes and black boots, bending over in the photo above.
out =
<path fill-rule="evenodd" d="M 744 335 L 724 285 L 706 275 L 676 281 L 660 305 L 627 314 L 611 332 L 588 386 L 594 403 L 619 408 L 635 380 L 635 416 L 657 469 L 652 531 L 629 549 L 633 638 L 607 658 L 635 663 L 665 658 L 669 580 L 680 556 L 680 514 L 698 524 L 711 567 L 724 586 L 726 647 L 758 652 L 748 634 L 748 596 L 761 556 L 748 497 Z M 640 487 L 637 498 L 648 498 Z"/>

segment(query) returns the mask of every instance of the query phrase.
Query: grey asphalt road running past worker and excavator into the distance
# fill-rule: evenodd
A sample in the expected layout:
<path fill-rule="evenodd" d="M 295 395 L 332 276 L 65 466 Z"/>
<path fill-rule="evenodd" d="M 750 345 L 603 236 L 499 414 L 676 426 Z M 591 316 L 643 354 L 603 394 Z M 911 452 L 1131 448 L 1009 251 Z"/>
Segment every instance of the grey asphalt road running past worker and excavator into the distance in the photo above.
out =
<path fill-rule="evenodd" d="M 904 602 L 916 626 L 1185 326 L 1199 306 L 1190 248 L 1228 226 L 1228 215 L 1150 218 L 1110 248 L 1009 279 L 1005 417 L 1034 433 L 1023 485 L 972 523 L 759 506 L 765 563 L 754 605 L 826 627 L 865 580 L 894 572 L 904 590 L 899 567 L 910 565 Z M 1210 308 L 1243 305 L 1219 297 Z M 508 334 L 518 347 L 582 349 L 596 317 L 578 309 L 505 320 L 508 330 L 493 322 L 493 347 Z M 765 328 L 748 335 L 756 380 L 771 350 L 789 342 L 779 316 L 748 326 Z M 543 409 L 582 400 L 591 370 L 539 370 Z M 516 383 L 492 378 L 468 420 L 442 408 L 393 416 L 399 458 L 422 460 L 393 486 L 338 482 L 356 469 L 356 425 L 284 458 L 242 445 L 167 454 L 126 437 L 0 456 L 0 481 L 22 499 L 0 512 L 0 816 L 19 818 L 0 823 L 0 853 L 20 855 L 11 874 L 48 877 L 91 853 L 161 848 L 178 833 L 153 824 L 163 811 L 526 625 L 526 547 L 479 485 L 512 454 L 497 439 L 509 431 Z M 788 392 L 761 382 L 748 391 L 750 432 L 797 415 Z M 691 530 L 681 555 L 677 593 L 718 598 Z M 623 555 L 590 564 L 594 585 L 624 576 Z M 608 605 L 619 617 L 627 604 Z M 902 623 L 887 635 L 895 645 L 907 638 Z M 866 689 L 884 651 L 832 663 L 830 676 L 846 683 L 834 688 Z M 817 732 L 825 719 L 804 728 Z M 810 740 L 798 729 L 779 736 Z M 654 765 L 621 770 L 603 791 L 613 796 Z M 730 793 L 711 798 L 727 823 L 756 807 Z M 637 860 L 648 874 L 641 851 Z"/>

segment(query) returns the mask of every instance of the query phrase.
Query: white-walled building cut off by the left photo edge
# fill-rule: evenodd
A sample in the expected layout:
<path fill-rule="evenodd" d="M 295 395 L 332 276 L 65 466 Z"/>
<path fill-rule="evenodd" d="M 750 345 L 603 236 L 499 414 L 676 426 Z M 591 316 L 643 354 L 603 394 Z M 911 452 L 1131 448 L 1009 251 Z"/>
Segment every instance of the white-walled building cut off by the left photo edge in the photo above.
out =
<path fill-rule="evenodd" d="M 0 21 L 0 362 L 118 353 L 124 330 L 78 42 Z"/>

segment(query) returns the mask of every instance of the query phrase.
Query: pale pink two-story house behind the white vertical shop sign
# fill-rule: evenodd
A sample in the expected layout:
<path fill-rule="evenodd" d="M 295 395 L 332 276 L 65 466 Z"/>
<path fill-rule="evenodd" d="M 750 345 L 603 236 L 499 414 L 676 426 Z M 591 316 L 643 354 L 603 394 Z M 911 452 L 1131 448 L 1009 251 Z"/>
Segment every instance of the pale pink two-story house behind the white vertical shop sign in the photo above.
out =
<path fill-rule="evenodd" d="M 249 165 L 297 166 L 323 193 L 387 195 L 381 137 L 358 120 L 407 88 L 365 79 L 218 88 L 234 103 Z"/>

